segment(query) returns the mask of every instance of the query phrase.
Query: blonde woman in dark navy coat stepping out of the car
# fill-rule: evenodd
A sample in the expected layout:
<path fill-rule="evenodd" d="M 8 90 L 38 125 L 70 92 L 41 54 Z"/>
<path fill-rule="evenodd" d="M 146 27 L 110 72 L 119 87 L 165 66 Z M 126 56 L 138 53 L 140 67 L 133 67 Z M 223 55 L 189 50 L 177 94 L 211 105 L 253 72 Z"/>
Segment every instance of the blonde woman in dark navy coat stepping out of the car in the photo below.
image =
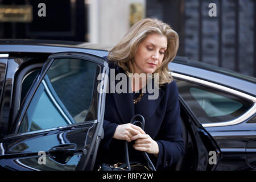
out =
<path fill-rule="evenodd" d="M 178 90 L 168 69 L 178 47 L 179 37 L 168 24 L 147 18 L 135 23 L 105 57 L 115 75 L 157 73 L 159 95 L 149 100 L 150 93 L 143 93 L 148 79 L 138 84 L 133 76 L 127 82 L 132 93 L 106 94 L 104 139 L 97 164 L 125 162 L 124 140 L 129 142 L 130 161 L 146 165 L 141 152 L 146 151 L 158 170 L 170 168 L 183 155 Z M 130 123 L 135 114 L 145 118 L 144 130 Z"/>

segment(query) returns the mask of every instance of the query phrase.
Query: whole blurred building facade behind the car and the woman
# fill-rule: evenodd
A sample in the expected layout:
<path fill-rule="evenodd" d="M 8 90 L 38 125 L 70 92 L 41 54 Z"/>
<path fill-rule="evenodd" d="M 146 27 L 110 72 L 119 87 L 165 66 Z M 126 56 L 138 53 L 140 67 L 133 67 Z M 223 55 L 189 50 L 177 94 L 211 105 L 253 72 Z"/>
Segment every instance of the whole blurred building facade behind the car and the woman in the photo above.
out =
<path fill-rule="evenodd" d="M 46 4 L 44 18 L 37 16 L 40 2 Z M 216 17 L 208 14 L 210 3 L 216 4 Z M 179 34 L 178 55 L 256 77 L 255 0 L 0 0 L 0 5 L 32 5 L 33 11 L 32 22 L 24 23 L 1 22 L 0 14 L 0 38 L 114 46 L 139 19 L 158 18 Z"/>

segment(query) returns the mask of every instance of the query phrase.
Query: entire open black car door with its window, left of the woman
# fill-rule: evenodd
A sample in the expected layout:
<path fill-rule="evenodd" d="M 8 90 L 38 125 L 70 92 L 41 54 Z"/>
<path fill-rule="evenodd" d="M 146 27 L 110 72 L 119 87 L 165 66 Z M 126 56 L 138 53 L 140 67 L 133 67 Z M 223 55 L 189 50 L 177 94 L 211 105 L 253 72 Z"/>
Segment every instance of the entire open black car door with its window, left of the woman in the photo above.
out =
<path fill-rule="evenodd" d="M 108 63 L 76 52 L 48 57 L 0 143 L 0 166 L 14 170 L 93 169 L 103 137 Z M 99 90 L 98 90 L 99 89 Z M 100 91 L 100 92 L 98 92 Z"/>

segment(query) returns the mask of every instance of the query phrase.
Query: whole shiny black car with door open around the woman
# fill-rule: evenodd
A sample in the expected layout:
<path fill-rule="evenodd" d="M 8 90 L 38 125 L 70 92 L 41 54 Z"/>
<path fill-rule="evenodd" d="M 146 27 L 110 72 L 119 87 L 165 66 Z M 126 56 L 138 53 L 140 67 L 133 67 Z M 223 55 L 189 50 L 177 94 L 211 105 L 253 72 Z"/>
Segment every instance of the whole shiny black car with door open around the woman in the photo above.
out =
<path fill-rule="evenodd" d="M 0 40 L 0 168 L 92 170 L 107 47 Z M 177 56 L 185 154 L 170 170 L 256 169 L 256 79 Z"/>

